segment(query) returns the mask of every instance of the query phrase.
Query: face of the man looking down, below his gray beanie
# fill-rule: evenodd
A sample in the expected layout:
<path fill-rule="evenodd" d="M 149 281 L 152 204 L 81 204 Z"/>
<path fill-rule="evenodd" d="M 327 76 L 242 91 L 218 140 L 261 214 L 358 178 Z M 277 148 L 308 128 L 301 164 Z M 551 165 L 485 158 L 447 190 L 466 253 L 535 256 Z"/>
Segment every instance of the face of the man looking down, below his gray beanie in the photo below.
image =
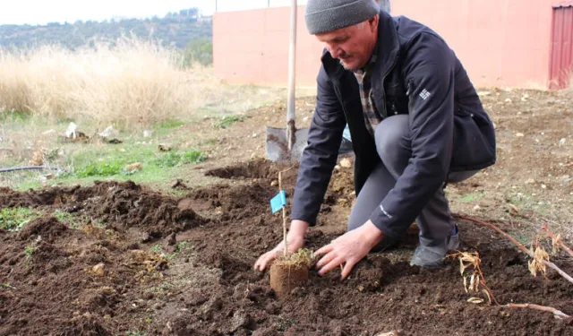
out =
<path fill-rule="evenodd" d="M 378 20 L 376 15 L 354 26 L 317 34 L 316 38 L 345 69 L 355 71 L 366 65 L 372 56 L 378 38 Z"/>

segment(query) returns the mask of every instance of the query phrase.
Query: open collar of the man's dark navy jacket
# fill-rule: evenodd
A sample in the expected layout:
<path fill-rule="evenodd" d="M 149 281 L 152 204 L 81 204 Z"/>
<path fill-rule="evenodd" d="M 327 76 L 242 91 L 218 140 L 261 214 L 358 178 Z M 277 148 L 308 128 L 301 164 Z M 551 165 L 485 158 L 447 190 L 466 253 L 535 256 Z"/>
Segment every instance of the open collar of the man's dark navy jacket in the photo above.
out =
<path fill-rule="evenodd" d="M 375 73 L 389 73 L 392 67 L 396 64 L 398 52 L 400 49 L 398 42 L 398 31 L 396 30 L 396 23 L 394 19 L 384 11 L 380 11 L 380 20 L 378 22 L 378 53 L 376 59 Z M 322 65 L 324 70 L 329 74 L 332 80 L 338 81 L 340 77 L 347 71 L 338 59 L 330 56 L 329 51 L 324 48 L 322 53 Z M 380 71 L 378 71 L 380 70 Z"/>

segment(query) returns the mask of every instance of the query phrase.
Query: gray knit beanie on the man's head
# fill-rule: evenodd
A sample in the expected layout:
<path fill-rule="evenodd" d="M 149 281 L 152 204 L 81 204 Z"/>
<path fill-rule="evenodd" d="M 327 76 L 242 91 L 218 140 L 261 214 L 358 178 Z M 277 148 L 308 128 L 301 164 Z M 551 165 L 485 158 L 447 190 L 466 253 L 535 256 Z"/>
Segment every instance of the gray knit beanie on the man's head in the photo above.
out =
<path fill-rule="evenodd" d="M 308 0 L 304 19 L 315 35 L 364 22 L 379 11 L 374 0 Z"/>

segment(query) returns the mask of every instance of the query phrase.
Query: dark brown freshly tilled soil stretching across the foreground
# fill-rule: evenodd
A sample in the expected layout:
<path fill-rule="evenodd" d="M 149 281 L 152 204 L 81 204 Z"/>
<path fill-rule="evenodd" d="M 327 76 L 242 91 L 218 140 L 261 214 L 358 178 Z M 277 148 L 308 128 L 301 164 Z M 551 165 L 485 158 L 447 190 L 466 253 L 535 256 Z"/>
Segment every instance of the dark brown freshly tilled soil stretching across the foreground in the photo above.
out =
<path fill-rule="evenodd" d="M 312 269 L 305 286 L 278 299 L 268 274 L 252 270 L 281 237 L 282 220 L 268 205 L 278 190 L 278 169 L 253 160 L 210 171 L 234 183 L 190 189 L 179 198 L 115 182 L 2 190 L 3 207 L 46 214 L 20 232 L 0 231 L 0 334 L 573 334 L 571 321 L 551 313 L 466 302 L 473 295 L 464 289 L 457 260 L 439 270 L 409 265 L 415 239 L 369 255 L 348 280 L 339 280 L 338 270 L 320 277 Z M 310 248 L 344 232 L 351 171 L 335 172 Z M 290 170 L 282 181 L 287 194 L 295 174 Z M 56 220 L 49 215 L 55 210 L 73 213 L 81 225 Z M 534 278 L 526 257 L 487 228 L 460 221 L 460 231 L 463 249 L 481 255 L 501 304 L 573 314 L 571 283 L 553 271 Z M 556 263 L 573 272 L 570 262 Z"/>

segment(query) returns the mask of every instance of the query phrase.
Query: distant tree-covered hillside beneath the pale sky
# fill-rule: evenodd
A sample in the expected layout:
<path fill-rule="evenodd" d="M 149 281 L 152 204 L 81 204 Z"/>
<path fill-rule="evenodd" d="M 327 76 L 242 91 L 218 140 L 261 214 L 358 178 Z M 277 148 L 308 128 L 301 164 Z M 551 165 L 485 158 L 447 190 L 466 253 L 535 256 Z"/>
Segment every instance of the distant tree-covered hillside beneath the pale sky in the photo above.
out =
<path fill-rule="evenodd" d="M 157 39 L 164 46 L 184 48 L 192 39 L 211 37 L 211 18 L 197 8 L 167 13 L 164 18 L 65 22 L 47 25 L 0 25 L 0 47 L 34 47 L 57 44 L 75 48 L 94 40 L 115 40 L 124 35 Z"/>

